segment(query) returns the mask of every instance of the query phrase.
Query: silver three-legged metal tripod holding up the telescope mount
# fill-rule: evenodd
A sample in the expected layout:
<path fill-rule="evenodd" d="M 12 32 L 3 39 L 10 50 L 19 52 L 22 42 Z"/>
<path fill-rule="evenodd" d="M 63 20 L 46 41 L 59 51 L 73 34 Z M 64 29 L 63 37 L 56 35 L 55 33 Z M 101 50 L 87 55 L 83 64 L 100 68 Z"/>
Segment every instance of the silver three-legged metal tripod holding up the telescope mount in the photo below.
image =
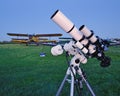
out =
<path fill-rule="evenodd" d="M 77 62 L 74 62 L 77 61 Z M 83 88 L 83 82 L 86 84 L 88 90 L 90 91 L 92 96 L 96 96 L 95 93 L 93 92 L 91 86 L 89 85 L 88 81 L 85 78 L 85 74 L 84 72 L 81 70 L 81 68 L 79 67 L 80 61 L 78 58 L 76 58 L 75 56 L 73 57 L 73 59 L 71 60 L 71 63 L 69 64 L 70 66 L 68 67 L 67 71 L 66 71 L 66 75 L 56 93 L 56 96 L 60 96 L 60 93 L 64 87 L 64 84 L 66 81 L 70 82 L 70 96 L 74 96 L 74 85 L 76 85 L 76 89 L 77 89 L 77 93 L 78 96 L 82 95 L 82 88 Z M 79 75 L 79 78 L 76 78 L 76 75 Z M 71 77 L 71 80 L 68 79 L 68 76 Z"/>

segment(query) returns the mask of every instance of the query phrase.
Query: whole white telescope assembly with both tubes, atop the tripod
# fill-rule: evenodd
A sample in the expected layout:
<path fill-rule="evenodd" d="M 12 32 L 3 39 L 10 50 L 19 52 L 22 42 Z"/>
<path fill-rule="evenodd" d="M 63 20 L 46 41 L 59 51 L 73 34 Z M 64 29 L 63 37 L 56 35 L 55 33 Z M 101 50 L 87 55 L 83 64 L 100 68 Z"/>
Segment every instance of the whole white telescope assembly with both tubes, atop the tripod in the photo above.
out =
<path fill-rule="evenodd" d="M 94 35 L 92 30 L 89 30 L 85 25 L 80 26 L 79 29 L 60 11 L 57 10 L 51 19 L 59 25 L 65 32 L 69 33 L 74 39 L 72 43 L 67 43 L 62 47 L 54 47 L 51 52 L 53 55 L 58 54 L 58 50 L 64 49 L 65 51 L 70 51 L 72 55 L 72 50 L 80 50 L 80 53 L 85 57 L 95 57 L 101 61 L 100 65 L 102 67 L 107 67 L 110 65 L 110 57 L 105 56 L 104 50 L 106 44 L 104 40 Z M 67 46 L 67 47 L 66 47 Z M 69 49 L 71 48 L 71 49 Z M 55 50 L 56 53 L 55 53 Z M 61 53 L 63 51 L 60 51 Z M 59 52 L 59 53 L 60 53 Z M 76 54 L 78 51 L 74 51 Z M 60 53 L 60 54 L 61 54 Z M 80 55 L 81 56 L 81 55 Z"/>

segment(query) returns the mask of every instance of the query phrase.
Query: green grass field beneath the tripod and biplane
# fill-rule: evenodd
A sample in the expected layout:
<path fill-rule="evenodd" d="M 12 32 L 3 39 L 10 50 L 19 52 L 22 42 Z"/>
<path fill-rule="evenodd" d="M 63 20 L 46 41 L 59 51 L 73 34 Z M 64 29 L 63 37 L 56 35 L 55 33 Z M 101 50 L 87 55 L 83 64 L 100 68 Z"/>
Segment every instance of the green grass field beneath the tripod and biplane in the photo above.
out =
<path fill-rule="evenodd" d="M 0 96 L 55 96 L 67 70 L 66 58 L 52 56 L 49 46 L 0 45 Z M 40 57 L 40 52 L 46 57 Z M 111 66 L 101 68 L 89 59 L 84 68 L 96 96 L 120 96 L 120 46 L 106 52 Z M 88 95 L 86 88 L 83 88 Z M 66 83 L 61 96 L 69 96 Z"/>

